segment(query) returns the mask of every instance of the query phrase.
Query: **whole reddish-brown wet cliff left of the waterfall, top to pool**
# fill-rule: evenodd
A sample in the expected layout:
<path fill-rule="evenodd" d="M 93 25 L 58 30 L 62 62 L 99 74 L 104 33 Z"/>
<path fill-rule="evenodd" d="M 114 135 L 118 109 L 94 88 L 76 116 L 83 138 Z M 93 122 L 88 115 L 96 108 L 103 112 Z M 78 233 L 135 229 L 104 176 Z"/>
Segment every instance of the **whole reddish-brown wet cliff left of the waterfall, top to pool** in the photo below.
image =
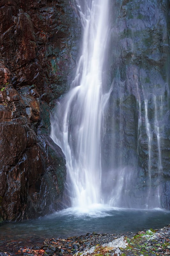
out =
<path fill-rule="evenodd" d="M 0 3 L 0 221 L 60 209 L 65 156 L 50 139 L 80 25 L 69 1 Z"/>

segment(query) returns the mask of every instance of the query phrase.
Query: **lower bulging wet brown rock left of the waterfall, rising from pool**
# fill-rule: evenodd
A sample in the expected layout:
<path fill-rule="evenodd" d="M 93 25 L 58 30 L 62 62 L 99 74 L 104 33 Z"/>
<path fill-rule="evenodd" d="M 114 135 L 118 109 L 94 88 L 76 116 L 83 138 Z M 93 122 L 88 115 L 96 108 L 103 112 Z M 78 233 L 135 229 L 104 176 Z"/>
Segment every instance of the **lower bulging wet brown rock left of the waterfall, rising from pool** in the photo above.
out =
<path fill-rule="evenodd" d="M 34 97 L 38 94 L 33 92 L 34 96 L 26 94 L 25 102 L 29 102 L 34 110 L 33 102 L 37 101 Z M 46 148 L 43 147 L 31 127 L 31 122 L 37 119 L 33 120 L 31 116 L 29 119 L 20 93 L 10 86 L 0 94 L 0 217 L 20 220 L 54 211 L 64 190 L 66 168 L 63 153 L 52 145 L 47 134 L 44 135 Z M 40 107 L 36 111 L 40 118 Z"/>

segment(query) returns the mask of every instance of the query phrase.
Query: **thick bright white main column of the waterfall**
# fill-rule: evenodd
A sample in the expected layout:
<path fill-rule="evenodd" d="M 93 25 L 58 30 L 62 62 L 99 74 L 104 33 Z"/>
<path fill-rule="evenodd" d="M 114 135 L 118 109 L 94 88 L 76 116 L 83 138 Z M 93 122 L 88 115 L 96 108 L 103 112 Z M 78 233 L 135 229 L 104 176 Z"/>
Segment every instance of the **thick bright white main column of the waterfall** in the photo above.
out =
<path fill-rule="evenodd" d="M 102 71 L 108 39 L 109 0 L 76 0 L 83 26 L 82 53 L 70 92 L 57 104 L 51 137 L 66 156 L 71 206 L 101 198 L 101 122 L 109 92 Z"/>

